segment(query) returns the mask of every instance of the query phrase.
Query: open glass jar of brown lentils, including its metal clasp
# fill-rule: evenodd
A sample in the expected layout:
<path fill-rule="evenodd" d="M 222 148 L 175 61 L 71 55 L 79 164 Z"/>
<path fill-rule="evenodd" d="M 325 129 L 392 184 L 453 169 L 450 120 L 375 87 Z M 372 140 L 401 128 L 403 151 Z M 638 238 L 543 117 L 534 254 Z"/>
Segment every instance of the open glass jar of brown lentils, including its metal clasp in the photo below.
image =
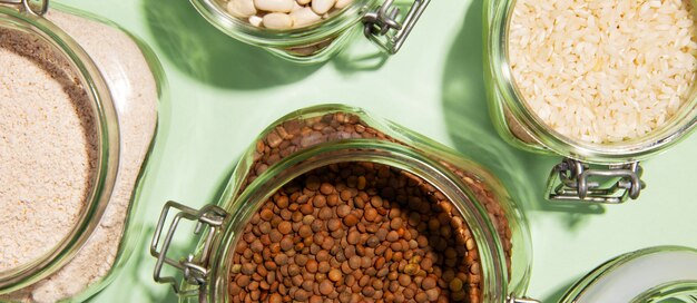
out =
<path fill-rule="evenodd" d="M 361 109 L 326 105 L 281 118 L 230 176 L 214 204 L 163 209 L 155 280 L 185 299 L 505 302 L 526 292 L 528 227 L 501 183 Z M 176 260 L 169 244 L 183 218 L 196 222 L 200 241 Z"/>

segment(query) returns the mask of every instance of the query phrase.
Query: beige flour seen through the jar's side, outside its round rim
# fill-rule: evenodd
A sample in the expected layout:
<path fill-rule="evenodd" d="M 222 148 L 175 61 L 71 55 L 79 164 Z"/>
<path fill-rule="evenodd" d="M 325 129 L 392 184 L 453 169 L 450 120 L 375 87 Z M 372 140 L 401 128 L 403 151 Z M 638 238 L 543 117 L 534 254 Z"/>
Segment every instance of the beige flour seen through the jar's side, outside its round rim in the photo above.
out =
<path fill-rule="evenodd" d="M 120 127 L 119 170 L 104 217 L 76 257 L 39 283 L 0 300 L 53 302 L 100 286 L 97 284 L 116 261 L 126 212 L 157 119 L 157 84 L 143 52 L 127 35 L 56 10 L 47 18 L 80 43 L 109 85 Z"/>

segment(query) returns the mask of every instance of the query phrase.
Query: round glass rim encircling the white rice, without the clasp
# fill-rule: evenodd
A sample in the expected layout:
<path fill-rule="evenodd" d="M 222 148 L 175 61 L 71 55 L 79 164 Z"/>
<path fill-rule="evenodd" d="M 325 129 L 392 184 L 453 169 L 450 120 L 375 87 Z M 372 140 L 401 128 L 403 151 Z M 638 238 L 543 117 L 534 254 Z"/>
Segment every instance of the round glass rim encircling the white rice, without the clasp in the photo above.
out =
<path fill-rule="evenodd" d="M 488 18 L 489 36 L 485 41 L 489 51 L 488 65 L 493 78 L 494 94 L 500 94 L 505 109 L 520 121 L 528 131 L 552 152 L 562 156 L 598 164 L 613 164 L 642 160 L 674 146 L 687 138 L 697 128 L 697 84 L 688 102 L 660 128 L 641 137 L 626 141 L 593 144 L 572 139 L 547 126 L 524 101 L 513 79 L 509 62 L 508 35 L 517 0 L 491 1 Z"/>

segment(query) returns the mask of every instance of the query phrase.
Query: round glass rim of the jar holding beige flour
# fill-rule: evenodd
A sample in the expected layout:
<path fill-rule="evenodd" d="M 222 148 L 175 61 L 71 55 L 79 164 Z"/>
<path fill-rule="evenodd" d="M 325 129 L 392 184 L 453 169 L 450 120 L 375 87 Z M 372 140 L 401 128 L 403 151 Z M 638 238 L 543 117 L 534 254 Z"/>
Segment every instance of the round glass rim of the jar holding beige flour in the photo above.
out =
<path fill-rule="evenodd" d="M 0 272 L 0 293 L 9 293 L 31 285 L 63 266 L 97 227 L 116 183 L 119 129 L 106 81 L 91 58 L 69 35 L 43 17 L 8 6 L 0 6 L 0 27 L 20 30 L 41 39 L 42 43 L 47 43 L 70 63 L 85 94 L 91 100 L 95 133 L 98 137 L 96 173 L 78 221 L 70 233 L 47 254 Z"/>

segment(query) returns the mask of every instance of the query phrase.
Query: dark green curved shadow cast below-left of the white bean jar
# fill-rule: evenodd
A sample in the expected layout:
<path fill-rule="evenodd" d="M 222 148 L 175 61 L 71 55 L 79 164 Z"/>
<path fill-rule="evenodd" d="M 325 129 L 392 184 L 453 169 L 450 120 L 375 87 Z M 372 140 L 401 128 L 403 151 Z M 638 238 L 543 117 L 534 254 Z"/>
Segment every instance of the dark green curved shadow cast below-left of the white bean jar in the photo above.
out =
<path fill-rule="evenodd" d="M 300 81 L 322 65 L 301 66 L 237 41 L 208 23 L 186 0 L 143 1 L 159 53 L 212 86 L 264 89 Z"/>

